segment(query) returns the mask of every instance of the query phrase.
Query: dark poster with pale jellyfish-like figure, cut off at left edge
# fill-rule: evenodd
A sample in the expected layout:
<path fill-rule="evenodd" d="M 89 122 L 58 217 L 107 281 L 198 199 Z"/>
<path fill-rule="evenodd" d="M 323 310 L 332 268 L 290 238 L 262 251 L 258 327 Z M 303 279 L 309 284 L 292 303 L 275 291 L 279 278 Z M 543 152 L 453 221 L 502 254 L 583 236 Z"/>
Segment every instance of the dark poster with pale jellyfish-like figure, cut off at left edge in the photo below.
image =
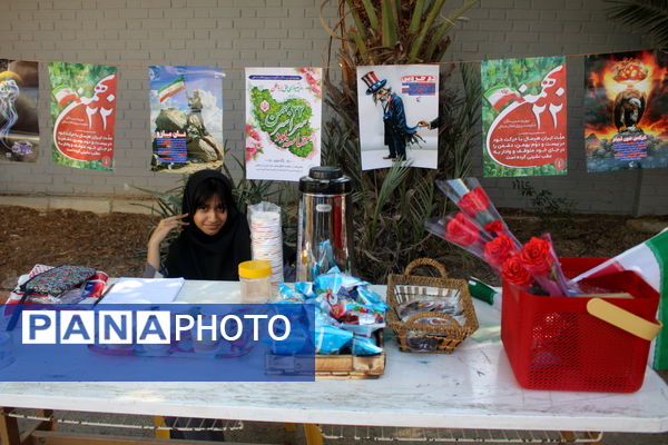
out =
<path fill-rule="evenodd" d="M 35 162 L 39 155 L 38 63 L 0 59 L 1 159 Z"/>

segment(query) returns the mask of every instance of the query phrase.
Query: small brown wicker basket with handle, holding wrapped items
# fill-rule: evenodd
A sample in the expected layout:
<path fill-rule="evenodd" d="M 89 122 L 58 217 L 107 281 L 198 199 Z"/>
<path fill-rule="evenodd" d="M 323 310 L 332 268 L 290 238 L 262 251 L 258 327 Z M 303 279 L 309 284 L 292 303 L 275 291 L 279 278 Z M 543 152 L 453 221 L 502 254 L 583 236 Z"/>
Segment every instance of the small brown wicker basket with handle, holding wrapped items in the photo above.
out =
<path fill-rule="evenodd" d="M 413 269 L 420 266 L 434 267 L 441 277 L 411 275 Z M 440 299 L 444 303 L 454 303 L 453 298 L 458 298 L 461 303 L 462 314 L 465 318 L 463 324 L 458 323 L 452 316 L 439 312 L 419 313 L 405 322 L 400 318 L 399 312 L 402 305 L 411 301 Z M 448 278 L 443 265 L 430 258 L 412 261 L 406 266 L 403 275 L 390 275 L 387 278 L 387 304 L 391 306 L 386 313 L 387 325 L 394 330 L 399 348 L 403 352 L 452 354 L 464 338 L 478 329 L 478 318 L 466 281 Z M 421 322 L 428 317 L 432 322 L 435 319 L 439 323 Z"/>

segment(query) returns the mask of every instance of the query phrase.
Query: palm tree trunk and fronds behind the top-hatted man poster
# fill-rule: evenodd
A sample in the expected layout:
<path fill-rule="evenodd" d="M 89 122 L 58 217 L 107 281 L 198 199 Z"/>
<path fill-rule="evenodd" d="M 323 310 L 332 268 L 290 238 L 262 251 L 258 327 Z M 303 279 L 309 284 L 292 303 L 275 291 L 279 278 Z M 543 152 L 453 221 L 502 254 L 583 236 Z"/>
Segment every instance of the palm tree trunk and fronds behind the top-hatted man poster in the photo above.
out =
<path fill-rule="evenodd" d="M 324 0 L 323 7 L 332 0 Z M 439 168 L 415 169 L 395 164 L 385 170 L 362 171 L 358 146 L 356 72 L 357 66 L 439 63 L 448 50 L 458 20 L 478 0 L 459 0 L 445 11 L 445 0 L 337 0 L 338 21 L 324 28 L 338 41 L 334 53 L 342 76 L 334 83 L 325 71 L 326 103 L 335 117 L 325 123 L 323 161 L 342 166 L 355 182 L 356 274 L 382 283 L 392 271 L 403 270 L 419 257 L 436 257 L 423 221 L 443 211 L 434 194 L 436 177 L 468 176 L 469 148 L 478 134 L 479 76 L 472 63 L 461 66 L 463 95 L 443 87 L 454 65 L 441 71 Z M 327 63 L 334 65 L 334 63 Z M 443 260 L 443 258 L 440 258 Z"/>

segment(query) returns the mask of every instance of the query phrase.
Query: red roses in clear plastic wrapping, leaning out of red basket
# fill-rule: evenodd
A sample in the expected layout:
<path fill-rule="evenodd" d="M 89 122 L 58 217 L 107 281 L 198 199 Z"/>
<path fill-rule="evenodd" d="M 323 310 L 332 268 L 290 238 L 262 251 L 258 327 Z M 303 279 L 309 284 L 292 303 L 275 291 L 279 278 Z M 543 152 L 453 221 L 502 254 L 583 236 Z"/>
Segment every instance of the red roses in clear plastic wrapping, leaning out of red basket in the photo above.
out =
<path fill-rule="evenodd" d="M 532 237 L 522 246 L 475 178 L 436 185 L 461 211 L 426 220 L 429 231 L 483 259 L 503 279 L 527 291 L 579 293 L 563 276 L 549 234 Z"/>

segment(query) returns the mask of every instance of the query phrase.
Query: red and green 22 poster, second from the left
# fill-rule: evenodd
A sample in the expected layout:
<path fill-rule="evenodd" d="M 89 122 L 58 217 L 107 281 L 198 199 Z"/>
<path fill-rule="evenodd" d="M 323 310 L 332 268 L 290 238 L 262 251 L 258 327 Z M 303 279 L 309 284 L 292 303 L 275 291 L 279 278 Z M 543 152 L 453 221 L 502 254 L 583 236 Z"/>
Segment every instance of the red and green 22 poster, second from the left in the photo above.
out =
<path fill-rule="evenodd" d="M 114 170 L 116 67 L 50 62 L 53 164 Z"/>

